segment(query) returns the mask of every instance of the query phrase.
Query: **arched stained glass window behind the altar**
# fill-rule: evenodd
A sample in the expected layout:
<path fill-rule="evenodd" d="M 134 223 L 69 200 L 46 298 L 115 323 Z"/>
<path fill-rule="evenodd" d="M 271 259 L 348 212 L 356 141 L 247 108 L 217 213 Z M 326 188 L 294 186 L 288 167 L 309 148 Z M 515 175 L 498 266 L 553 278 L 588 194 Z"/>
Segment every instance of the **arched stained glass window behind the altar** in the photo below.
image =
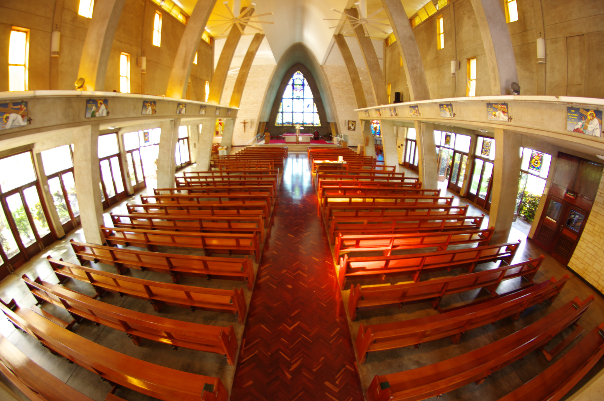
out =
<path fill-rule="evenodd" d="M 321 125 L 315 98 L 304 75 L 296 71 L 283 91 L 275 125 Z"/>

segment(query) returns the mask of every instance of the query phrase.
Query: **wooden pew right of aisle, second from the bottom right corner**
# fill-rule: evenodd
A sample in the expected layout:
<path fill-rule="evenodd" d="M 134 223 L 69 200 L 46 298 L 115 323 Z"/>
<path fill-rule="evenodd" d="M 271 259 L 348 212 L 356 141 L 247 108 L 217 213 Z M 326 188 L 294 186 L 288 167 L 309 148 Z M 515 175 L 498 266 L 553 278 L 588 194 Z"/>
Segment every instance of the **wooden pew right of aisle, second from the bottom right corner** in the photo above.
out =
<path fill-rule="evenodd" d="M 376 375 L 367 390 L 367 399 L 423 400 L 471 382 L 481 384 L 491 373 L 544 347 L 553 336 L 577 321 L 593 301 L 593 295 L 583 302 L 575 297 L 530 326 L 477 350 L 412 370 Z"/>

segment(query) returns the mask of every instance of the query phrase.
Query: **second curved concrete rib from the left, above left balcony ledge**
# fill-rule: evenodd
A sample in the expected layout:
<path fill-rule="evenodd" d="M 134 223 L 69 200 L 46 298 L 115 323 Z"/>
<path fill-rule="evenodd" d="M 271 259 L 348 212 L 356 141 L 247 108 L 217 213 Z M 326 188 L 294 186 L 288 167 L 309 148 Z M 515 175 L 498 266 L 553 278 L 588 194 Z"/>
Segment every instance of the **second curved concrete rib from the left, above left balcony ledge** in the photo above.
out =
<path fill-rule="evenodd" d="M 201 34 L 204 33 L 205 26 L 208 24 L 214 4 L 216 4 L 216 0 L 198 0 L 193 8 L 187 21 L 187 27 L 182 34 L 181 43 L 178 45 L 168 87 L 165 90 L 165 95 L 170 98 L 182 99 L 187 93 L 195 52 L 198 51 Z"/>

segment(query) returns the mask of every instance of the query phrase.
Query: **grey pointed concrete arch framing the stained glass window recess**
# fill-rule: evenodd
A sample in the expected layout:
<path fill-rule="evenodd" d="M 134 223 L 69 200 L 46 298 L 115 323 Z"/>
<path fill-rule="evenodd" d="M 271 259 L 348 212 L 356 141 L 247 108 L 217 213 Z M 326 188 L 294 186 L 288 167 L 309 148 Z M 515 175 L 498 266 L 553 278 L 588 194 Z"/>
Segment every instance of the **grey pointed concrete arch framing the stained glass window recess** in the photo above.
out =
<path fill-rule="evenodd" d="M 321 96 L 321 102 L 325 109 L 325 124 L 338 121 L 327 77 L 319 64 L 319 61 L 316 59 L 315 54 L 313 54 L 308 46 L 300 42 L 291 45 L 279 59 L 277 67 L 272 74 L 271 81 L 266 88 L 265 97 L 262 101 L 262 109 L 260 109 L 259 121 L 269 121 L 272 105 L 275 101 L 275 96 L 278 95 L 281 82 L 289 70 L 297 64 L 306 66 L 315 80 L 316 87 Z M 323 124 L 323 122 L 321 123 Z"/>

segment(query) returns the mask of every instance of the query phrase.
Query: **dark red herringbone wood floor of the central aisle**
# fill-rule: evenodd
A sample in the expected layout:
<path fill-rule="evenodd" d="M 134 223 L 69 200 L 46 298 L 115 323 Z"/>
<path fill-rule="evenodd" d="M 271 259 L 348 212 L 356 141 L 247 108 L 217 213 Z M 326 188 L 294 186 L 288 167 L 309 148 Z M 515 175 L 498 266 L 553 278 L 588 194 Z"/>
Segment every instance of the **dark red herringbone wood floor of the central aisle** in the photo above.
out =
<path fill-rule="evenodd" d="M 231 400 L 362 400 L 306 154 L 289 154 Z"/>

